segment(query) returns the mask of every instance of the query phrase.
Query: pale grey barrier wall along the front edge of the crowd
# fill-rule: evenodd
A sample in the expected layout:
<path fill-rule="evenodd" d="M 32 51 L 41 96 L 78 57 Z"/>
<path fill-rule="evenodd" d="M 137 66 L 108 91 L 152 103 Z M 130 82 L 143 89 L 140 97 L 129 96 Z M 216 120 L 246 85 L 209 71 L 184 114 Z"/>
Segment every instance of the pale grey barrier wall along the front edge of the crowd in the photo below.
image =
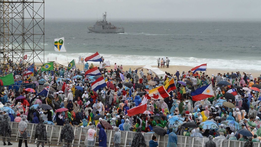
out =
<path fill-rule="evenodd" d="M 12 129 L 12 137 L 18 137 L 18 122 L 10 122 L 10 126 Z M 35 135 L 35 127 L 37 124 L 29 123 L 27 127 L 27 133 L 29 133 L 28 139 L 34 139 Z M 59 125 L 46 125 L 46 132 L 48 141 L 57 142 L 60 139 L 61 129 L 63 126 Z M 73 127 L 74 130 L 74 141 L 72 143 L 79 144 L 79 146 L 84 145 L 84 140 L 86 138 L 86 134 L 88 128 L 81 127 Z M 99 129 L 96 129 L 97 135 L 99 133 Z M 113 139 L 114 139 L 114 130 L 105 130 L 107 135 L 107 146 L 113 147 Z M 121 132 L 121 146 L 129 146 L 129 143 L 132 142 L 132 139 L 135 135 L 135 132 Z M 143 133 L 147 146 L 149 146 L 149 141 L 151 140 L 152 135 L 154 133 Z M 168 135 L 160 136 L 156 135 L 159 143 L 159 147 L 166 147 L 168 143 Z M 204 138 L 207 139 L 207 138 Z M 98 142 L 98 139 L 96 139 Z M 17 141 L 17 140 L 16 140 Z M 98 146 L 98 143 L 96 144 Z M 178 136 L 178 147 L 204 147 L 202 144 L 202 140 L 198 141 L 196 138 L 189 136 Z M 244 142 L 241 141 L 229 141 L 224 140 L 219 147 L 243 147 Z M 260 143 L 254 143 L 254 147 L 260 147 Z"/>

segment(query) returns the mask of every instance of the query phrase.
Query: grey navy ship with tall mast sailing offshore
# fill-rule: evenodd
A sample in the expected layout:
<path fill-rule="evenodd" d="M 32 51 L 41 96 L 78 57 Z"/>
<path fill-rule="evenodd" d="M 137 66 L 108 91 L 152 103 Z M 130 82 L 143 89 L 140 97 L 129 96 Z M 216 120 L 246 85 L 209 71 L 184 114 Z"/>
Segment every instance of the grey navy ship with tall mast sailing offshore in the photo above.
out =
<path fill-rule="evenodd" d="M 103 13 L 102 20 L 98 20 L 93 27 L 87 27 L 90 32 L 94 33 L 124 33 L 124 28 L 111 25 L 106 21 L 107 13 Z"/>

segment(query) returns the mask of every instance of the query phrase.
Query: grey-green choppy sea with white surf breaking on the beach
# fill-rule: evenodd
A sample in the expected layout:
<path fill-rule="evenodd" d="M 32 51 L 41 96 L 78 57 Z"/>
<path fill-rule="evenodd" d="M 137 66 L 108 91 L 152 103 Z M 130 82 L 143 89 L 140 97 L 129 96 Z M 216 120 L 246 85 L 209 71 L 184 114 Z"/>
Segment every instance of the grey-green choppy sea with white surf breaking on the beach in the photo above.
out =
<path fill-rule="evenodd" d="M 261 71 L 261 22 L 111 21 L 125 33 L 89 33 L 95 21 L 45 20 L 45 62 L 78 62 L 80 55 L 99 52 L 118 65 L 157 65 L 157 58 L 168 57 L 170 65 Z M 54 51 L 54 39 L 60 37 L 66 53 Z"/>

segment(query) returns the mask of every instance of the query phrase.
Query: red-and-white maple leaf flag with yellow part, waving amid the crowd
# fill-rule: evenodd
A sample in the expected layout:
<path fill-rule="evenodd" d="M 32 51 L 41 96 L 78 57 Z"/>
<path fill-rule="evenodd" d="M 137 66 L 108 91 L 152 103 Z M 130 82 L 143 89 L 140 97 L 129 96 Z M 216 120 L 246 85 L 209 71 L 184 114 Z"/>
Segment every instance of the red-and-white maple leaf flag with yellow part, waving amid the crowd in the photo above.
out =
<path fill-rule="evenodd" d="M 166 91 L 164 86 L 159 86 L 159 87 L 156 87 L 149 91 L 149 95 L 148 95 L 147 99 L 156 99 L 157 100 L 157 99 L 164 99 L 169 96 L 170 95 L 168 94 L 168 92 Z"/>

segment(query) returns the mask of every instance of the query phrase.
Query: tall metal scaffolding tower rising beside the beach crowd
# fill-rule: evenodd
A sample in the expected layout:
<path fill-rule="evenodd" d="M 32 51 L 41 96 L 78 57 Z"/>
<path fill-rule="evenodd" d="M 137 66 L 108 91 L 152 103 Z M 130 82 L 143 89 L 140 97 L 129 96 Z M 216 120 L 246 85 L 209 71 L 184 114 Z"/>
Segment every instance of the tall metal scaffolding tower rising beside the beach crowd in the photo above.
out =
<path fill-rule="evenodd" d="M 44 0 L 0 0 L 1 75 L 35 62 L 43 64 L 44 6 Z"/>

